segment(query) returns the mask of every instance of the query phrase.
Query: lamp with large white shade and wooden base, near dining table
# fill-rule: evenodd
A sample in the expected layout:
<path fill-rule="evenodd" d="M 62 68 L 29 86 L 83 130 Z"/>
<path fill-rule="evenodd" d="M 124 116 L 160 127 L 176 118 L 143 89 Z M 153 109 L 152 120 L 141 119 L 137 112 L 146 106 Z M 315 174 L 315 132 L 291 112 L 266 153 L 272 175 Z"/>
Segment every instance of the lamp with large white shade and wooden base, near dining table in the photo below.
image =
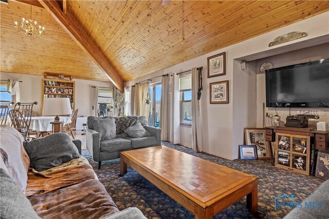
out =
<path fill-rule="evenodd" d="M 71 115 L 69 98 L 44 98 L 43 115 L 56 115 L 52 125 L 52 133 L 63 131 L 64 122 L 60 121 L 59 115 Z"/>

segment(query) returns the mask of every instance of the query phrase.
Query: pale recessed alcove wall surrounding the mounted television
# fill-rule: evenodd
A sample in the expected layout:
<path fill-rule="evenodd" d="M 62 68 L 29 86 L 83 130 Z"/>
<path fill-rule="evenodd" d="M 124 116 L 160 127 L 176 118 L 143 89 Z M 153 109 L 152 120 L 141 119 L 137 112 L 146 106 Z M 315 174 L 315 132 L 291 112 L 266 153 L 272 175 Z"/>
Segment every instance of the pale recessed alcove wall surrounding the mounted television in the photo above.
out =
<path fill-rule="evenodd" d="M 320 44 L 317 46 L 307 47 L 304 49 L 299 49 L 291 52 L 286 52 L 279 55 L 273 55 L 266 58 L 257 60 L 257 127 L 263 126 L 263 103 L 266 103 L 265 96 L 265 74 L 260 72 L 260 67 L 265 62 L 270 62 L 273 64 L 274 68 L 295 65 L 299 63 L 305 63 L 310 61 L 320 60 L 322 58 L 329 58 L 329 43 Z M 329 85 L 328 85 L 329 86 Z M 329 94 L 327 94 L 329 95 Z M 297 110 L 320 110 L 325 111 L 324 116 L 320 116 L 317 121 L 329 122 L 329 109 L 328 108 L 291 108 L 291 114 L 296 114 Z M 265 107 L 265 113 L 271 113 L 275 115 L 275 108 Z M 285 118 L 289 115 L 289 108 L 277 108 L 279 116 L 281 116 L 281 125 L 285 123 Z M 265 118 L 266 126 L 270 125 L 268 122 L 269 118 Z M 316 122 L 309 122 L 315 125 Z"/>

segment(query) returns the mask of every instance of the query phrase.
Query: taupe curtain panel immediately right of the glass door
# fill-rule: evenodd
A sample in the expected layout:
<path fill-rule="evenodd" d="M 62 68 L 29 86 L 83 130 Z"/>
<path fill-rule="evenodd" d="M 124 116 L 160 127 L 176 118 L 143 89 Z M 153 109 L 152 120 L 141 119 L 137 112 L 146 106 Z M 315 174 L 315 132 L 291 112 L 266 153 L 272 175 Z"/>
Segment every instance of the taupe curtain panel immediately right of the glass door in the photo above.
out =
<path fill-rule="evenodd" d="M 160 105 L 160 128 L 161 140 L 168 141 L 167 133 L 167 107 L 168 107 L 168 77 L 162 76 L 161 79 L 161 105 Z"/>

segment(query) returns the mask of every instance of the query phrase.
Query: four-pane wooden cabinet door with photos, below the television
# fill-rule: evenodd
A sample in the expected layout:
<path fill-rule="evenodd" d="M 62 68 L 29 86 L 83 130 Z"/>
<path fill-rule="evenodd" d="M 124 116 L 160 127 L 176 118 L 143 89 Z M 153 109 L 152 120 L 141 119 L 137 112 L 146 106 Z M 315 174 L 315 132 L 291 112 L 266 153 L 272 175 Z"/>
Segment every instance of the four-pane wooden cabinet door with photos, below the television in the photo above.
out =
<path fill-rule="evenodd" d="M 276 133 L 275 166 L 309 175 L 310 137 Z"/>

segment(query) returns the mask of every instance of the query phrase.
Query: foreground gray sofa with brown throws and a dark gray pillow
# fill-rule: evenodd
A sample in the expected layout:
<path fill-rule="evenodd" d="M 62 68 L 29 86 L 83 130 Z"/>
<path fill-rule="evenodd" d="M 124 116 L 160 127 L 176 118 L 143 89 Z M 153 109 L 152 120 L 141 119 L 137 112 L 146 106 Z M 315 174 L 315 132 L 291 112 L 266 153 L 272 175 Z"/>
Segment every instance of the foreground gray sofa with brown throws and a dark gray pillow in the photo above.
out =
<path fill-rule="evenodd" d="M 7 125 L 0 134 L 1 218 L 145 218 L 137 208 L 118 210 L 79 154 L 81 142 L 65 132 L 28 143 Z"/>

